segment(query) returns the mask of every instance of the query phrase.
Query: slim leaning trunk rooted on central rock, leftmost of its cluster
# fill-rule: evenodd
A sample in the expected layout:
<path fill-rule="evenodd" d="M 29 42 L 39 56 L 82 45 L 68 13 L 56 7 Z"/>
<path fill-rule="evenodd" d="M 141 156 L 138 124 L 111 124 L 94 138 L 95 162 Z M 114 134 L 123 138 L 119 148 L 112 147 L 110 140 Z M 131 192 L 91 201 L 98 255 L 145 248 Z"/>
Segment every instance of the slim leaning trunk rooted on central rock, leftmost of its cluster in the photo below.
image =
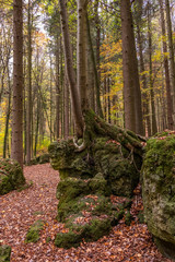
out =
<path fill-rule="evenodd" d="M 60 4 L 60 14 L 61 14 L 63 49 L 65 49 L 65 57 L 66 57 L 65 60 L 66 60 L 66 67 L 68 72 L 69 86 L 70 86 L 73 118 L 75 122 L 77 135 L 82 136 L 84 121 L 83 121 L 81 104 L 80 104 L 80 94 L 78 91 L 78 86 L 75 84 L 75 74 L 73 71 L 73 60 L 72 60 L 72 51 L 71 51 L 69 26 L 68 26 L 68 15 L 67 15 L 65 0 L 59 0 L 59 4 Z"/>

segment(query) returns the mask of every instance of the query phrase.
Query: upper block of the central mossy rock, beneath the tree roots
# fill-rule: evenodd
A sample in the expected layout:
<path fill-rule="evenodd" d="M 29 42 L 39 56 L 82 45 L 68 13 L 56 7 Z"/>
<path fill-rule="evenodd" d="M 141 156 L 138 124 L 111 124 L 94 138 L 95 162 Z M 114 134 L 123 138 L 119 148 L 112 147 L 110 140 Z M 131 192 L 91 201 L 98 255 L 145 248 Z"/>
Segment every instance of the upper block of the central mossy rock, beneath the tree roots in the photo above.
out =
<path fill-rule="evenodd" d="M 139 181 L 141 157 L 109 138 L 96 138 L 93 146 L 82 152 L 77 152 L 72 140 L 55 142 L 49 154 L 61 179 L 90 179 L 102 174 L 110 192 L 124 196 L 131 196 Z"/>

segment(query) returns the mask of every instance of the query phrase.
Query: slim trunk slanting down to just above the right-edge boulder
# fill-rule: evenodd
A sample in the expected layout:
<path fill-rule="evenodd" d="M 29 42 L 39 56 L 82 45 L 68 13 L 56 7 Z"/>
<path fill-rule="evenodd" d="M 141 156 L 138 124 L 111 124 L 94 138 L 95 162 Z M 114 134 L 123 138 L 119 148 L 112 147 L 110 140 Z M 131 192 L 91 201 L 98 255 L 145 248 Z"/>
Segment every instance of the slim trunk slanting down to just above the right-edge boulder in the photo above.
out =
<path fill-rule="evenodd" d="M 160 11 L 161 11 L 161 27 L 162 27 L 162 45 L 163 45 L 163 53 L 164 53 L 164 70 L 165 70 L 165 83 L 166 83 L 166 100 L 167 100 L 167 124 L 168 129 L 173 130 L 173 104 L 171 96 L 171 81 L 170 81 L 170 71 L 168 71 L 168 61 L 167 61 L 167 46 L 166 46 L 166 31 L 165 31 L 165 20 L 164 20 L 164 10 L 163 2 L 160 1 Z"/>

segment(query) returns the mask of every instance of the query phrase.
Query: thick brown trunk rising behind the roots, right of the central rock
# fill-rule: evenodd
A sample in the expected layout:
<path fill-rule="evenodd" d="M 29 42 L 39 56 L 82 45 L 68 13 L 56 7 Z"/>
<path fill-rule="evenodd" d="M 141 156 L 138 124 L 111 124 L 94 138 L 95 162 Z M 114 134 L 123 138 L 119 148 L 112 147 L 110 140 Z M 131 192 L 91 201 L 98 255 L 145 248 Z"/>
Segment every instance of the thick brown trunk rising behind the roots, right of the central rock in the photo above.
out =
<path fill-rule="evenodd" d="M 136 56 L 132 14 L 129 0 L 121 1 L 120 13 L 122 37 L 125 126 L 127 129 L 143 134 L 141 93 Z"/>

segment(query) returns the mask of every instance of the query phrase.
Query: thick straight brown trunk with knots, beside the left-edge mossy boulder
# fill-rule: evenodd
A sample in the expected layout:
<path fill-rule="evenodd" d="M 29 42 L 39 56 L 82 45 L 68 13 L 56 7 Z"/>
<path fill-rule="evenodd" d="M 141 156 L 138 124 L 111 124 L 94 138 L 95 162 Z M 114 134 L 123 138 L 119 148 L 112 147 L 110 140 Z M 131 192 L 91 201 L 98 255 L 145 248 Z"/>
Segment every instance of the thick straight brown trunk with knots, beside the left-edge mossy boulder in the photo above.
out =
<path fill-rule="evenodd" d="M 23 167 L 23 8 L 13 0 L 13 115 L 11 158 Z"/>

